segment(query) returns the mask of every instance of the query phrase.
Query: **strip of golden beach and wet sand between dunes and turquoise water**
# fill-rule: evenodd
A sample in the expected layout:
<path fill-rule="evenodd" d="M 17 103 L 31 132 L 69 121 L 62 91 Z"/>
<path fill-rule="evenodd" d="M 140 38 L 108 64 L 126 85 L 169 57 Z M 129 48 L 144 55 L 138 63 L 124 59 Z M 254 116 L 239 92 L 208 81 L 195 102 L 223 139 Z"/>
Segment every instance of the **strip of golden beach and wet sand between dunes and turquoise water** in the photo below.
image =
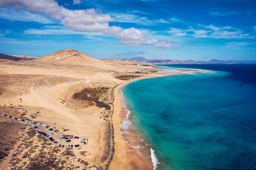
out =
<path fill-rule="evenodd" d="M 163 75 L 148 75 L 132 81 L 156 76 Z M 109 169 L 153 169 L 150 147 L 142 142 L 135 127 L 131 125 L 129 129 L 121 129 L 128 113 L 126 101 L 122 97 L 122 87 L 132 81 L 120 84 L 114 89 L 114 155 Z"/>

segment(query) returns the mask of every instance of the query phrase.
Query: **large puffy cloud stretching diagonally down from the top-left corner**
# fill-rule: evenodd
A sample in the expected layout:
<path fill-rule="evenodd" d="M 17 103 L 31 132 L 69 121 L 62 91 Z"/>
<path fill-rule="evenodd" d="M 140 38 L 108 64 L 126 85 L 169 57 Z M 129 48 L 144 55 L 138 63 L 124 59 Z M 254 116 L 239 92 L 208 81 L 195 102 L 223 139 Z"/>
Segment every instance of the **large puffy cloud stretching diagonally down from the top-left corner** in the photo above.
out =
<path fill-rule="evenodd" d="M 74 0 L 73 2 L 74 4 L 79 4 L 81 1 Z M 31 12 L 40 12 L 74 31 L 89 31 L 114 36 L 114 38 L 119 39 L 121 43 L 130 46 L 156 44 L 158 42 L 158 39 L 148 37 L 147 31 L 140 31 L 136 28 L 109 26 L 109 22 L 113 22 L 114 18 L 109 14 L 103 14 L 95 9 L 70 10 L 59 6 L 54 0 L 37 0 L 36 3 L 34 0 L 2 0 L 0 2 L 0 7 L 6 4 L 11 4 L 12 7 L 23 11 L 27 10 L 28 14 L 32 14 Z M 37 14 L 35 14 L 35 16 L 37 16 Z M 136 19 L 135 15 L 127 15 L 126 17 L 133 17 L 134 20 Z M 38 21 L 46 22 L 40 19 L 38 19 Z M 123 21 L 125 20 L 123 19 Z M 140 18 L 139 22 L 145 23 L 149 21 L 147 18 Z M 56 30 L 48 31 L 53 32 Z M 32 32 L 36 33 L 35 30 L 27 31 L 27 33 Z"/>

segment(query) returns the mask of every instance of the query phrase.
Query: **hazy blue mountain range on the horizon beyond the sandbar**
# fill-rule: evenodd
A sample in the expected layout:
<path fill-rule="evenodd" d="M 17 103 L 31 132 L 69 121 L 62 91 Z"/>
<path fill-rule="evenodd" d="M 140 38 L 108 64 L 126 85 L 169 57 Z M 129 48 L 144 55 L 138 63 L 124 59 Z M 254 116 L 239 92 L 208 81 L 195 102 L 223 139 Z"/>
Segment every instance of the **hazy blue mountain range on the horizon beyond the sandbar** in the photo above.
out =
<path fill-rule="evenodd" d="M 140 63 L 151 63 L 151 64 L 238 64 L 238 63 L 255 63 L 256 60 L 249 61 L 237 61 L 237 60 L 210 60 L 208 62 L 204 61 L 194 61 L 194 60 L 156 60 L 156 59 L 145 59 L 144 57 L 134 57 L 130 60 L 135 60 Z"/>

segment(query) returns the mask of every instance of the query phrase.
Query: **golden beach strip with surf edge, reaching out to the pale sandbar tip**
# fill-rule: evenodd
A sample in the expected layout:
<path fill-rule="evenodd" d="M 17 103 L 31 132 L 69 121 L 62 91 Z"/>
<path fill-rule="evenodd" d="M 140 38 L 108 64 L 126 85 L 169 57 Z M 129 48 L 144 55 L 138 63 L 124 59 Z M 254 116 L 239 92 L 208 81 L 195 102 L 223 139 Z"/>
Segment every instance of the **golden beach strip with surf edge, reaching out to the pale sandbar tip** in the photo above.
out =
<path fill-rule="evenodd" d="M 166 67 L 166 69 L 169 69 Z M 175 68 L 176 70 L 179 68 Z M 181 68 L 182 69 L 182 68 Z M 209 72 L 208 70 L 191 69 L 181 70 L 179 72 L 161 71 L 158 74 L 142 76 L 127 82 L 118 84 L 113 89 L 113 129 L 114 129 L 114 155 L 109 163 L 108 169 L 155 169 L 158 160 L 153 148 L 141 139 L 136 131 L 134 124 L 129 123 L 129 131 L 123 132 L 121 126 L 124 119 L 129 116 L 129 109 L 125 97 L 122 95 L 122 88 L 129 83 L 147 78 L 157 78 L 172 75 L 192 74 L 194 71 Z M 132 145 L 132 144 L 133 145 Z"/>

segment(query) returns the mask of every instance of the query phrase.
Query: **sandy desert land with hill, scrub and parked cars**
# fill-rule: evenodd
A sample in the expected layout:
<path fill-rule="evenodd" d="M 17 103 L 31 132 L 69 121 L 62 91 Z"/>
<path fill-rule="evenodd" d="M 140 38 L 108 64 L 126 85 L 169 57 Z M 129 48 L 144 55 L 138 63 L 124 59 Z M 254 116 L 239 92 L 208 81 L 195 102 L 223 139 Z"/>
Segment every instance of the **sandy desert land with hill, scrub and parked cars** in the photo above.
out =
<path fill-rule="evenodd" d="M 153 168 L 150 156 L 127 151 L 119 94 L 125 83 L 155 76 L 153 67 L 75 50 L 0 55 L 1 169 Z"/>

